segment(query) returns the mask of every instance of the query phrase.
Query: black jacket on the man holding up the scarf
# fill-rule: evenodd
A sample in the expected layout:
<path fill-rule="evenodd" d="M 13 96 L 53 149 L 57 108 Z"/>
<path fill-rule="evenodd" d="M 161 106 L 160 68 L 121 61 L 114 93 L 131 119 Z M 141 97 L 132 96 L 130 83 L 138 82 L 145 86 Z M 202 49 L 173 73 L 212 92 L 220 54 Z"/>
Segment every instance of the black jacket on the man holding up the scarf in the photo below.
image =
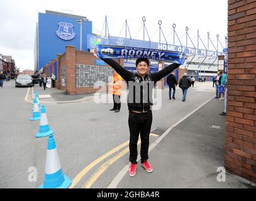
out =
<path fill-rule="evenodd" d="M 128 109 L 129 111 L 150 111 L 152 109 L 152 90 L 154 85 L 172 72 L 180 65 L 173 63 L 157 73 L 150 73 L 145 75 L 144 78 L 140 77 L 138 73 L 132 73 L 125 68 L 121 67 L 119 63 L 111 58 L 102 58 L 102 60 L 116 70 L 116 72 L 128 84 Z"/>

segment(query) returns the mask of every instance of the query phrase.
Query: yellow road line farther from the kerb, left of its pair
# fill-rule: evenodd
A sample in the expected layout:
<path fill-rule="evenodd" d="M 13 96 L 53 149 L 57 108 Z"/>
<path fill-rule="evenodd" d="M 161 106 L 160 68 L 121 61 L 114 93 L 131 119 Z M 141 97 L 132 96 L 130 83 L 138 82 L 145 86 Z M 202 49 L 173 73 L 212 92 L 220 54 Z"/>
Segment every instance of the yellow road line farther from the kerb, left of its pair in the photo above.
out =
<path fill-rule="evenodd" d="M 129 144 L 129 141 L 126 141 L 123 144 L 120 144 L 119 146 L 116 146 L 116 148 L 113 148 L 111 151 L 109 151 L 108 153 L 104 154 L 103 156 L 97 158 L 95 161 L 93 161 L 91 164 L 87 165 L 86 168 L 84 168 L 84 170 L 82 170 L 72 181 L 72 185 L 70 185 L 69 188 L 74 188 L 74 186 L 81 180 L 82 177 L 84 177 L 84 175 L 86 175 L 86 173 L 91 170 L 91 168 L 93 168 L 94 166 L 96 166 L 98 163 L 100 163 L 102 160 L 104 160 L 105 158 L 107 158 L 108 156 L 112 155 L 113 153 L 115 153 L 116 151 L 119 151 L 121 148 L 125 147 L 126 145 Z"/>

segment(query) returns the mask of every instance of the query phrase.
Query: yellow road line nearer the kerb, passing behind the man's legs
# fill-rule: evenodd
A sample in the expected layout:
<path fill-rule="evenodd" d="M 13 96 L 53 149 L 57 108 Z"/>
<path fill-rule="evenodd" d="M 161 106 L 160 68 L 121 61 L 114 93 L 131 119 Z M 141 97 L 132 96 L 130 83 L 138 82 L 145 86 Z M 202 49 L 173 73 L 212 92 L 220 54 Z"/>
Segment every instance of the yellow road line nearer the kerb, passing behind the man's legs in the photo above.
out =
<path fill-rule="evenodd" d="M 140 144 L 141 141 L 138 141 L 138 144 Z M 104 171 L 106 171 L 109 166 L 111 166 L 115 161 L 117 161 L 118 159 L 120 159 L 123 155 L 125 155 L 126 153 L 129 152 L 129 147 L 124 149 L 123 151 L 121 151 L 118 155 L 112 157 L 111 159 L 109 159 L 108 161 L 106 161 L 105 163 L 103 163 L 103 165 L 101 165 L 99 167 L 99 169 L 96 171 L 96 173 L 94 173 L 91 178 L 89 178 L 89 181 L 86 182 L 85 185 L 82 186 L 82 188 L 91 188 L 92 184 L 97 180 L 97 178 L 99 178 L 99 176 L 101 176 Z"/>

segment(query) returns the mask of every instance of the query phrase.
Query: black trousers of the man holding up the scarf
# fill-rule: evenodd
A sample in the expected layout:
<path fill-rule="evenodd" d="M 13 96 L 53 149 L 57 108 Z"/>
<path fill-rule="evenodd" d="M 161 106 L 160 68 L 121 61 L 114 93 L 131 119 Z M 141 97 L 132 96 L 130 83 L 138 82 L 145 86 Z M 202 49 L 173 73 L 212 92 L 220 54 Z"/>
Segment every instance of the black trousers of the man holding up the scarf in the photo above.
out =
<path fill-rule="evenodd" d="M 129 111 L 128 124 L 130 129 L 130 162 L 137 164 L 137 143 L 138 136 L 140 134 L 140 139 L 142 141 L 142 146 L 140 148 L 140 161 L 143 163 L 144 161 L 148 160 L 149 135 L 152 125 L 152 111 L 145 113 L 135 113 Z"/>

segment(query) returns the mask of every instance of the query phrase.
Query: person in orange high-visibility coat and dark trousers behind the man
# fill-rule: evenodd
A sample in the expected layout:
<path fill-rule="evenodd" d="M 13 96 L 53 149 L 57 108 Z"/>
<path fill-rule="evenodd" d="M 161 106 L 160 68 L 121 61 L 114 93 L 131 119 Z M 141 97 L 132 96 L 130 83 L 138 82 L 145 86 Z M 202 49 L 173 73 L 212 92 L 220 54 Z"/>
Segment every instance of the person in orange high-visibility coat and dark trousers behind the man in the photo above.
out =
<path fill-rule="evenodd" d="M 110 111 L 120 112 L 121 109 L 121 87 L 122 87 L 122 77 L 118 75 L 116 71 L 113 72 L 112 82 L 111 82 L 111 94 L 113 94 L 114 106 Z"/>

